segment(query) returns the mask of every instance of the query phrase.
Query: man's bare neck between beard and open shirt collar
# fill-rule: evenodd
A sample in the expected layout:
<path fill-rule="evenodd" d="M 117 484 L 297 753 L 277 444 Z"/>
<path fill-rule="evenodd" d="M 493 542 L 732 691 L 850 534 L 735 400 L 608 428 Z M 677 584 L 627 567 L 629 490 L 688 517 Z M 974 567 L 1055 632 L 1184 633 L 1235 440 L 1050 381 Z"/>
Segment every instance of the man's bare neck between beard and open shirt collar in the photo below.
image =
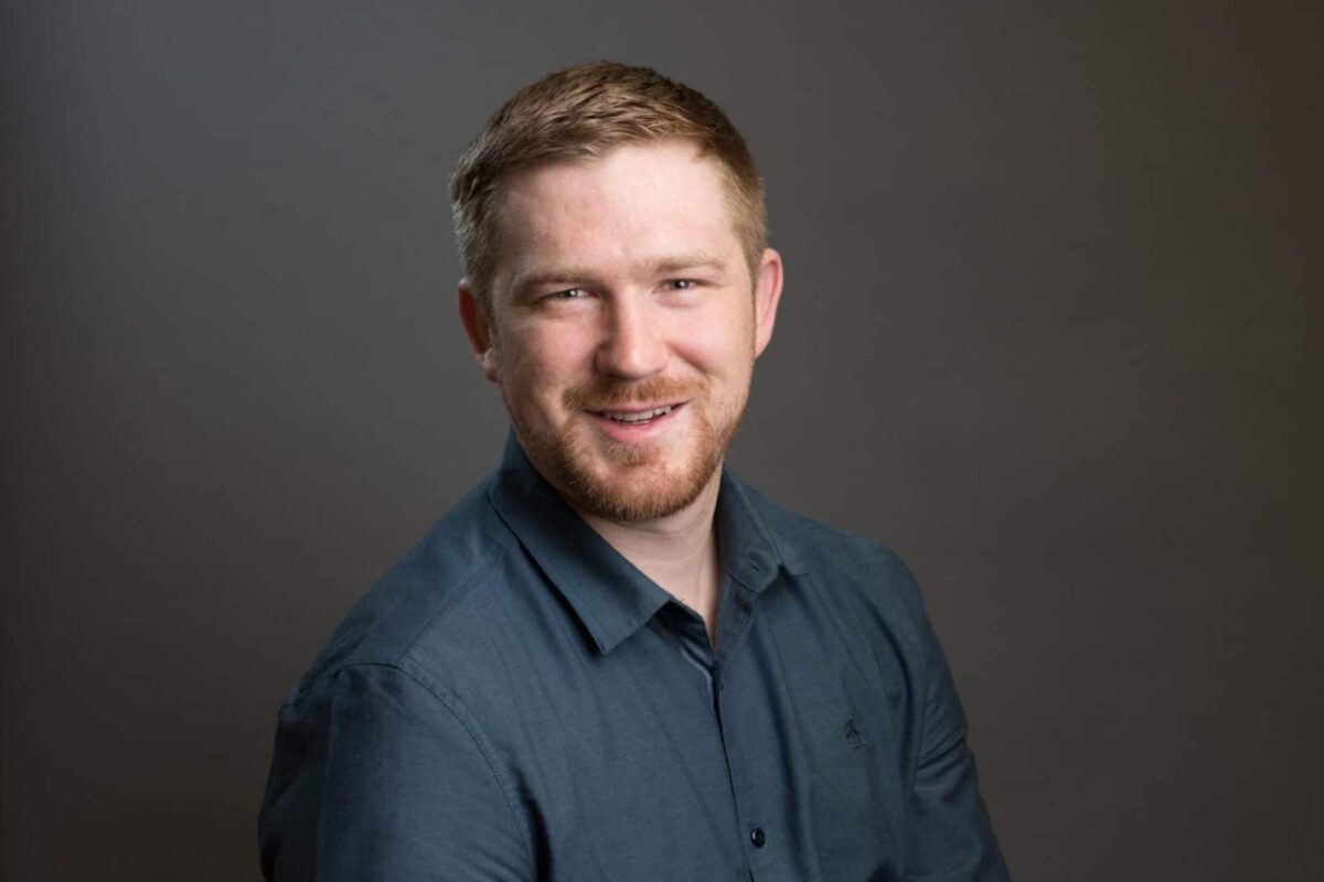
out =
<path fill-rule="evenodd" d="M 712 528 L 720 467 L 690 505 L 653 521 L 621 524 L 576 508 L 584 522 L 681 603 L 698 612 L 715 640 L 722 562 Z"/>

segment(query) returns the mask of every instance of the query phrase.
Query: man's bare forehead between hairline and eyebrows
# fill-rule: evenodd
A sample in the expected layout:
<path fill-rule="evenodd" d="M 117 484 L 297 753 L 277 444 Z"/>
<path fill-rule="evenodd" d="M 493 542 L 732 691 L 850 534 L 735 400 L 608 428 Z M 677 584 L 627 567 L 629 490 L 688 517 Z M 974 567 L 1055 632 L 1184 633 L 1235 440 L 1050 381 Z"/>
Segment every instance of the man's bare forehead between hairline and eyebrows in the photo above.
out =
<path fill-rule="evenodd" d="M 688 141 L 628 144 L 522 172 L 503 188 L 495 276 L 557 266 L 629 272 L 687 254 L 739 253 L 720 164 Z"/>

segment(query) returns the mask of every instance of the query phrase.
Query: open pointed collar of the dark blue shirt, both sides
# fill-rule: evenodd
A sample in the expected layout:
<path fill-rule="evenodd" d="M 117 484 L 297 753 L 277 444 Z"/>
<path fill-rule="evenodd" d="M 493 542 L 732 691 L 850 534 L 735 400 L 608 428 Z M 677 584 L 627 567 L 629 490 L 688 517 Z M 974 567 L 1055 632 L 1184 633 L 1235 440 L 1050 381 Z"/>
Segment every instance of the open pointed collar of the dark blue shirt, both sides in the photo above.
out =
<path fill-rule="evenodd" d="M 673 599 L 565 504 L 528 461 L 514 431 L 489 499 L 604 653 Z M 776 578 L 781 558 L 744 488 L 726 471 L 715 522 L 727 574 L 761 592 Z"/>

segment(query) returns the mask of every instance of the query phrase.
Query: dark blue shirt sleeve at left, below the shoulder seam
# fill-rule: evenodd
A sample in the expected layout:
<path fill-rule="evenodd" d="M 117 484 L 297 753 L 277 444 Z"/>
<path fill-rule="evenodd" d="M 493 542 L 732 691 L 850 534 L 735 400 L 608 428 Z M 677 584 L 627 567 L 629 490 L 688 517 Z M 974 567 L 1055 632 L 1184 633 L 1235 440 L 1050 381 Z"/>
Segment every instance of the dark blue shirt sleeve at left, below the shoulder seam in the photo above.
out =
<path fill-rule="evenodd" d="M 391 665 L 343 668 L 281 710 L 258 826 L 269 882 L 534 878 L 463 707 Z"/>

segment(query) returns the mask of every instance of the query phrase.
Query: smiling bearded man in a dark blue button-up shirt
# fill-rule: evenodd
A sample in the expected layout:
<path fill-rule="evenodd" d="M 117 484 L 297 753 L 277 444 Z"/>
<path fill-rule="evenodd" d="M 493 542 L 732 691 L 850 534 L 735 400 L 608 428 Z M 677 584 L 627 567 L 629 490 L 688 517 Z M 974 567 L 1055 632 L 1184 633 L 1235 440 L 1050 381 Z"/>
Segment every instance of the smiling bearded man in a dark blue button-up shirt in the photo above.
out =
<path fill-rule="evenodd" d="M 722 468 L 782 266 L 740 135 L 613 63 L 451 184 L 514 431 L 281 710 L 269 879 L 1005 879 L 894 554 Z"/>

